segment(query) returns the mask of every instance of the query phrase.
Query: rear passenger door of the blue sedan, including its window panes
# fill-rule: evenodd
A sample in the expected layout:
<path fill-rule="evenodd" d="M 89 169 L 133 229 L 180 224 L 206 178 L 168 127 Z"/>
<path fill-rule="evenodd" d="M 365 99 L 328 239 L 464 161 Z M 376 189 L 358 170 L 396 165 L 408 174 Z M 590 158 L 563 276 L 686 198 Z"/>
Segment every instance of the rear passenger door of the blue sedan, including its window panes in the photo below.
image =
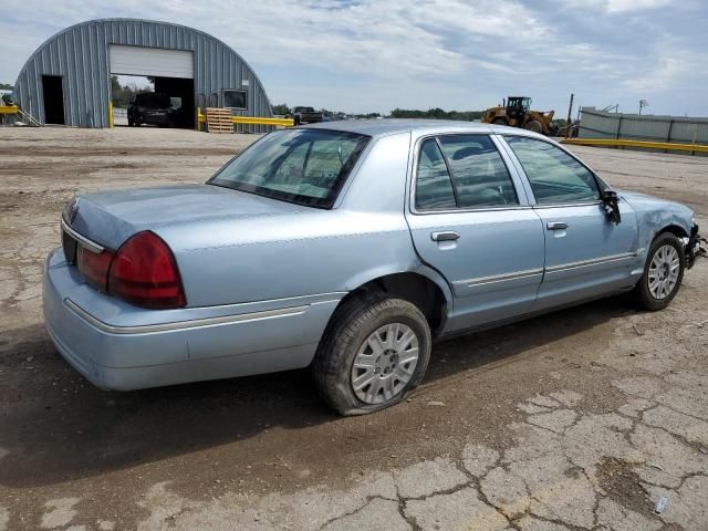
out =
<path fill-rule="evenodd" d="M 406 212 L 423 261 L 450 283 L 447 331 L 529 311 L 543 273 L 543 228 L 498 140 L 420 138 Z"/>

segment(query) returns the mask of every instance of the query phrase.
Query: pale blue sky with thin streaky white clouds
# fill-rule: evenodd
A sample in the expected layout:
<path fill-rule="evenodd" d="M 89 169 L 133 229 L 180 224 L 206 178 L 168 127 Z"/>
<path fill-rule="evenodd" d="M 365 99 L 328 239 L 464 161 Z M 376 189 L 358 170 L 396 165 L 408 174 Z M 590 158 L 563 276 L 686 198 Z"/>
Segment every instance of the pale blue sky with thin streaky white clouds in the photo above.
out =
<path fill-rule="evenodd" d="M 272 104 L 475 111 L 508 95 L 708 116 L 708 0 L 0 0 L 0 82 L 98 18 L 181 23 L 233 48 Z"/>

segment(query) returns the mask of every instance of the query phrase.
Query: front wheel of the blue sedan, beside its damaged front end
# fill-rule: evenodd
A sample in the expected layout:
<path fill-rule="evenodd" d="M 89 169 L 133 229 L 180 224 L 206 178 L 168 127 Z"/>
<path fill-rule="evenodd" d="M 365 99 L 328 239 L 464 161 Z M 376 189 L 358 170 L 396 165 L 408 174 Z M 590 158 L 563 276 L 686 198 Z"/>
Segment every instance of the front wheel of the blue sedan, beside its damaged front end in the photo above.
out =
<path fill-rule="evenodd" d="M 674 267 L 677 267 L 678 270 L 675 272 L 671 283 Z M 635 288 L 639 305 L 650 312 L 668 306 L 681 285 L 685 268 L 686 257 L 679 239 L 670 232 L 657 236 L 649 248 L 644 273 Z M 659 280 L 657 284 L 657 275 L 658 279 L 666 280 Z"/>

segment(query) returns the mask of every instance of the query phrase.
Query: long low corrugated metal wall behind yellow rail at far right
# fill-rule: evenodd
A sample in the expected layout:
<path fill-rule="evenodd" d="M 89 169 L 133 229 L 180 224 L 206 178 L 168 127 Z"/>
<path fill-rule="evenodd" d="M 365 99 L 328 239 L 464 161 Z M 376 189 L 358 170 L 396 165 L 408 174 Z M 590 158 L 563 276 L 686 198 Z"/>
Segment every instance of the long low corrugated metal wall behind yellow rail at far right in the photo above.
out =
<path fill-rule="evenodd" d="M 581 138 L 627 138 L 681 144 L 708 144 L 708 118 L 686 116 L 641 116 L 581 110 Z"/>

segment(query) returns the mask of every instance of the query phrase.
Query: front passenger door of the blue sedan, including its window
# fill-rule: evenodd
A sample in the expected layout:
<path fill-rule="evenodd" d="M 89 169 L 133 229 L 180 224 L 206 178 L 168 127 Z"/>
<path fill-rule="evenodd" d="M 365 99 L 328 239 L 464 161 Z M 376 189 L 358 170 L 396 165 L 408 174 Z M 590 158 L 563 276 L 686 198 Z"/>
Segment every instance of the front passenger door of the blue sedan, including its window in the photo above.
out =
<path fill-rule="evenodd" d="M 575 157 L 550 142 L 504 136 L 530 185 L 545 233 L 545 274 L 535 309 L 601 295 L 632 284 L 636 216 L 621 200 L 613 222 L 600 200 L 601 181 Z"/>

